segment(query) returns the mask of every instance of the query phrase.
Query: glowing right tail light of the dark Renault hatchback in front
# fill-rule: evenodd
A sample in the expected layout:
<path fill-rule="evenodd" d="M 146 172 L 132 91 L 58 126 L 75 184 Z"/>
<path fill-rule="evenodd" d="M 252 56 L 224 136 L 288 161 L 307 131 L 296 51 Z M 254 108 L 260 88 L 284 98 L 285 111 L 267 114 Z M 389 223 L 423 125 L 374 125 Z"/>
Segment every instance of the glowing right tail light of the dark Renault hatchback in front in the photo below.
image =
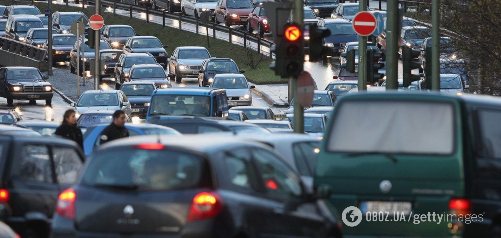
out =
<path fill-rule="evenodd" d="M 187 221 L 203 220 L 219 214 L 222 209 L 221 198 L 215 192 L 200 192 L 191 202 Z"/>

